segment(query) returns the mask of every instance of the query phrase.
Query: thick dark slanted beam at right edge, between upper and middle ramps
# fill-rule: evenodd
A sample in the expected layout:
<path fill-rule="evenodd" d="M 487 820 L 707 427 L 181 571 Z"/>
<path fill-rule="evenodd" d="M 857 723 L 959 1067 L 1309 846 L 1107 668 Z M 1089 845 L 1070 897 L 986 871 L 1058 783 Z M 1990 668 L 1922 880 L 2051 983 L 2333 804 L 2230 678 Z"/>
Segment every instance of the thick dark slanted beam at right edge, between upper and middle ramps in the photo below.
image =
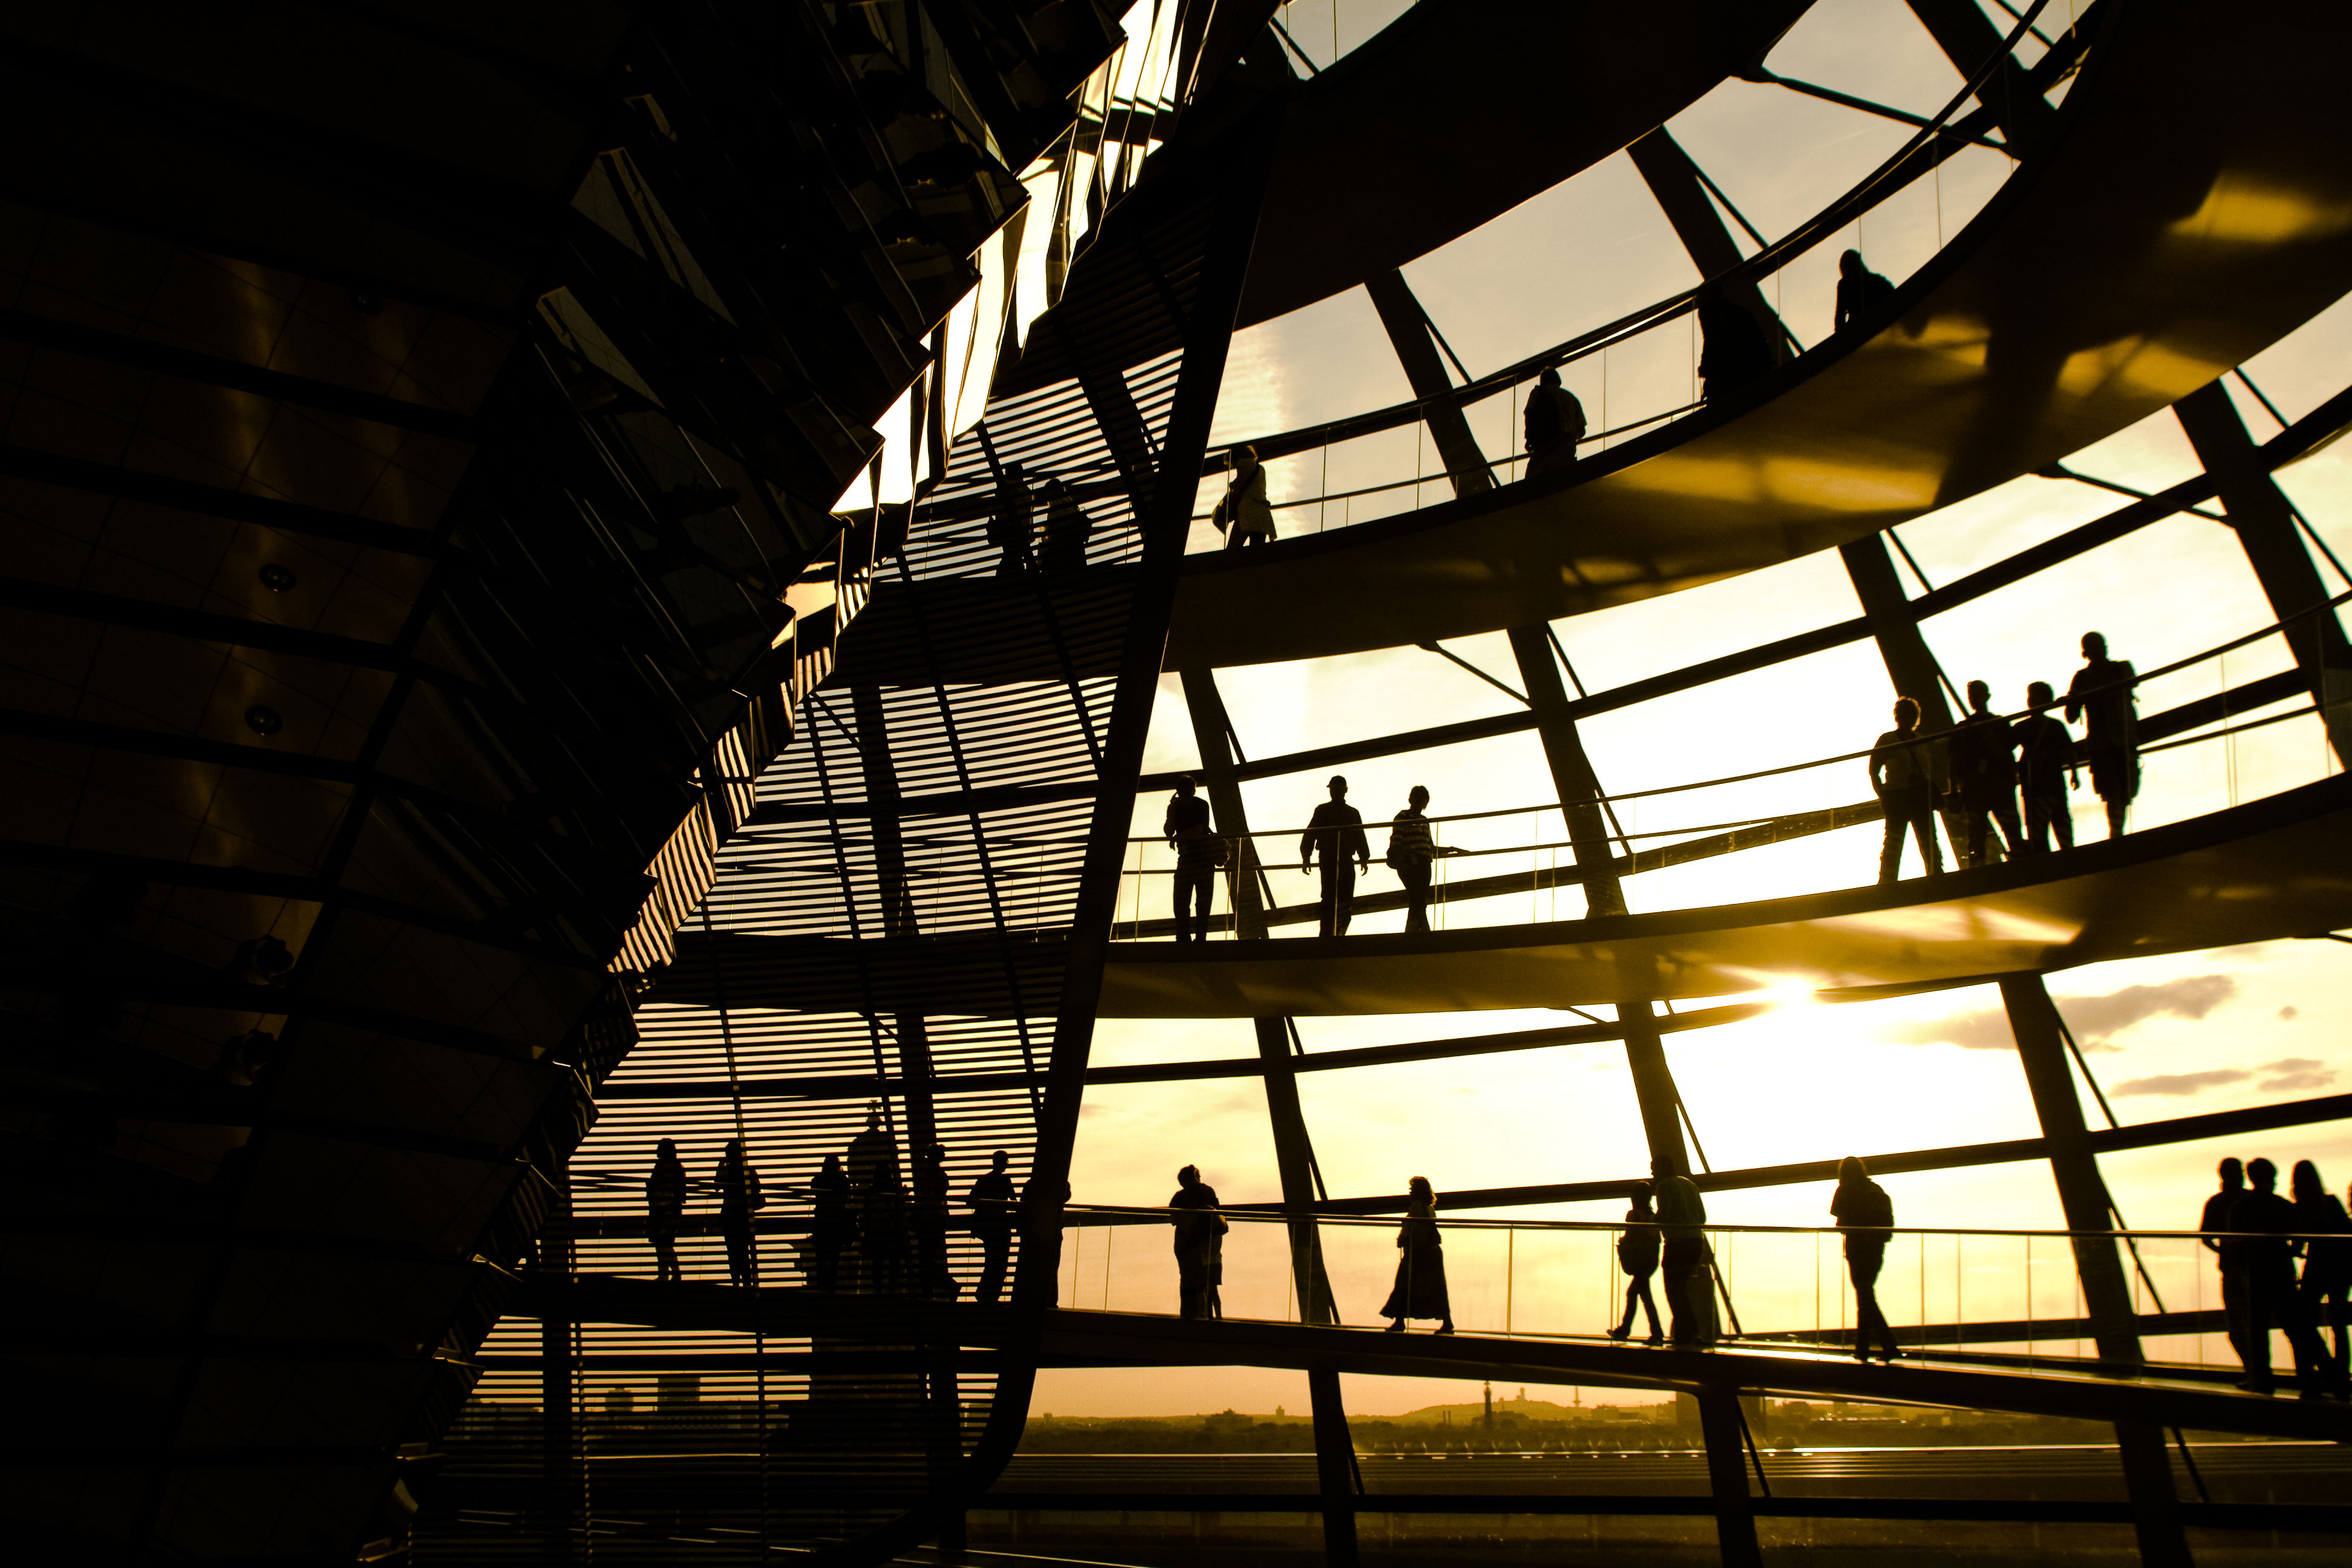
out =
<path fill-rule="evenodd" d="M 2237 529 L 2237 543 L 2246 550 L 2246 564 L 2263 583 L 2270 614 L 2277 621 L 2298 625 L 2286 632 L 2286 646 L 2296 654 L 2296 668 L 2312 684 L 2312 701 L 2319 705 L 2319 722 L 2328 731 L 2336 759 L 2352 757 L 2352 642 L 2333 611 L 2324 609 L 2328 590 L 2319 581 L 2319 569 L 2296 536 L 2296 515 L 2279 494 L 2277 480 L 2263 468 L 2260 449 L 2246 435 L 2246 421 L 2230 404 L 2230 393 L 2220 381 L 2209 381 L 2173 404 L 2173 416 L 2187 430 L 2197 461 L 2220 487 L 2220 503 Z"/>

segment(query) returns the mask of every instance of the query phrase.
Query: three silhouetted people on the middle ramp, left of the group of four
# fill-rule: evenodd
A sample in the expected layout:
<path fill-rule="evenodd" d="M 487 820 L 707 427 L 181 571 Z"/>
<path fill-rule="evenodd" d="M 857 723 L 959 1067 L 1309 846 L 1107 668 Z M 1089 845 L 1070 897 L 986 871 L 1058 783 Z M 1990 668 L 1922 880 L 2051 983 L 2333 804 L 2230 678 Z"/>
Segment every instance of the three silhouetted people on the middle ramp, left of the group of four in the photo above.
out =
<path fill-rule="evenodd" d="M 1364 835 L 1364 813 L 1348 804 L 1345 776 L 1334 773 L 1327 790 L 1331 799 L 1315 806 L 1305 832 L 1298 835 L 1298 872 L 1303 877 L 1322 872 L 1317 936 L 1345 936 L 1355 917 L 1355 879 L 1371 872 L 1371 839 Z M 1430 835 L 1428 806 L 1428 788 L 1414 785 L 1388 827 L 1383 865 L 1404 884 L 1406 931 L 1430 929 L 1432 865 L 1463 853 Z M 1216 907 L 1216 872 L 1232 865 L 1232 839 L 1216 832 L 1209 802 L 1190 778 L 1176 780 L 1160 830 L 1176 851 L 1176 940 L 1204 943 Z"/>

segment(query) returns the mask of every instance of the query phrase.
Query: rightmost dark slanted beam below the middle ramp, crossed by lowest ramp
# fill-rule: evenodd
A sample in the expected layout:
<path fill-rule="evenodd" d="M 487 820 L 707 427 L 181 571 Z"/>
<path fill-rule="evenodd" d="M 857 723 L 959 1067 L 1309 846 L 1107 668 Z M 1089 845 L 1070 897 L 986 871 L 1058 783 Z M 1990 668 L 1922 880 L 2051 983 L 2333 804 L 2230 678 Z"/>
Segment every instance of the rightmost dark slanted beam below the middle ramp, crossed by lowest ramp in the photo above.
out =
<path fill-rule="evenodd" d="M 2091 1338 L 2103 1371 L 2129 1375 L 2140 1366 L 2140 1338 L 2131 1312 L 2131 1288 L 2124 1260 L 2112 1239 L 2114 1227 L 2107 1185 L 2091 1152 L 2091 1128 L 2082 1119 L 2074 1072 L 2067 1067 L 2058 1006 L 2042 976 L 2004 976 L 2002 1001 L 2009 1030 L 2018 1039 L 2018 1065 L 2034 1098 L 2042 1140 L 2051 1154 L 2051 1178 L 2058 1185 L 2058 1208 L 2065 1227 L 2077 1232 L 2074 1269 L 2082 1279 L 2082 1302 L 2091 1314 Z M 2180 1526 L 2180 1497 L 2173 1490 L 2173 1465 L 2164 1450 L 2164 1432 L 2147 1422 L 2114 1422 L 2114 1441 L 2124 1462 L 2124 1486 L 2131 1495 L 2133 1528 L 2140 1537 L 2140 1561 L 2152 1568 L 2190 1568 L 2187 1535 Z"/>

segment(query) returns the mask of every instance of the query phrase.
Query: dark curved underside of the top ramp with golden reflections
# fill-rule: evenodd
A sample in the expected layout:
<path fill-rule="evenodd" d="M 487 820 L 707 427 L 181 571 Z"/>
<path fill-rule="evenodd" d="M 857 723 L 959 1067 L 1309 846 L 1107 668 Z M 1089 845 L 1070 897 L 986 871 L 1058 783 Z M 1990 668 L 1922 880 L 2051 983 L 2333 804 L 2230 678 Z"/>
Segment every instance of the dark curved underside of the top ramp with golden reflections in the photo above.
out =
<path fill-rule="evenodd" d="M 2352 12 L 2133 5 L 2058 143 L 1903 292 L 1724 407 L 1576 470 L 1188 562 L 1169 668 L 1348 654 L 1693 588 L 2032 473 L 2352 282 L 2352 115 L 2272 89 Z"/>

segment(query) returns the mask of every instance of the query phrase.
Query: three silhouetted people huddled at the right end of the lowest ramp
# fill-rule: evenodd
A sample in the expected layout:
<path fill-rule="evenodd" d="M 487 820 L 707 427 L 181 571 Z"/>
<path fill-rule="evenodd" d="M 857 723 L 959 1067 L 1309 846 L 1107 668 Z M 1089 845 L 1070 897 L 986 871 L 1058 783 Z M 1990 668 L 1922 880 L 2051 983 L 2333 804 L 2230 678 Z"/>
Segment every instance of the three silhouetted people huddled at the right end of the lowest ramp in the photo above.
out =
<path fill-rule="evenodd" d="M 2220 1190 L 2206 1199 L 2197 1229 L 2220 1265 L 2220 1307 L 2230 1349 L 2246 1366 L 2237 1385 L 2253 1394 L 2277 1389 L 2270 1371 L 2270 1331 L 2286 1333 L 2303 1399 L 2352 1399 L 2345 1298 L 2352 1293 L 2352 1220 L 2319 1180 L 2319 1166 L 2298 1159 L 2279 1197 L 2279 1166 L 2267 1159 L 2220 1161 Z M 2303 1274 L 2296 1274 L 2296 1262 Z M 2333 1345 L 2321 1328 L 2333 1326 Z"/>

